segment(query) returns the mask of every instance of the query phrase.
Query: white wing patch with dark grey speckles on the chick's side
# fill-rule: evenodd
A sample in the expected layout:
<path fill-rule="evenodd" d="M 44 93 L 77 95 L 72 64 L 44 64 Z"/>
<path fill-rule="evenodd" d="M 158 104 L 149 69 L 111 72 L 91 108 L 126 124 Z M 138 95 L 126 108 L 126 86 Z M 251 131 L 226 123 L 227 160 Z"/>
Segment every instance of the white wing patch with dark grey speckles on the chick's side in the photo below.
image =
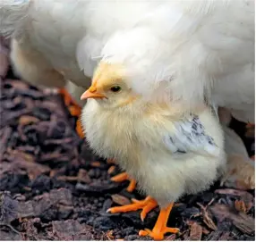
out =
<path fill-rule="evenodd" d="M 164 138 L 166 146 L 173 153 L 216 154 L 217 146 L 213 138 L 205 133 L 205 128 L 197 115 L 176 122 L 175 129 L 175 134 L 169 134 Z"/>

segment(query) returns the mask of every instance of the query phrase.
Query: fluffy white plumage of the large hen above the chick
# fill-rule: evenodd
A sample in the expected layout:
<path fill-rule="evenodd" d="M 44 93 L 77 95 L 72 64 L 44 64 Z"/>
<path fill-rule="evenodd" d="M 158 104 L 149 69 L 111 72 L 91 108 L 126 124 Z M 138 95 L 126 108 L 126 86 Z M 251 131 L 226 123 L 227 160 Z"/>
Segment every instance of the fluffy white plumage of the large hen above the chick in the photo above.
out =
<path fill-rule="evenodd" d="M 0 32 L 26 50 L 23 63 L 38 52 L 28 58 L 38 76 L 61 71 L 87 88 L 100 61 L 119 63 L 151 100 L 193 107 L 206 99 L 254 121 L 254 0 L 4 0 L 0 14 Z M 13 53 L 22 75 L 28 67 L 17 59 Z"/>

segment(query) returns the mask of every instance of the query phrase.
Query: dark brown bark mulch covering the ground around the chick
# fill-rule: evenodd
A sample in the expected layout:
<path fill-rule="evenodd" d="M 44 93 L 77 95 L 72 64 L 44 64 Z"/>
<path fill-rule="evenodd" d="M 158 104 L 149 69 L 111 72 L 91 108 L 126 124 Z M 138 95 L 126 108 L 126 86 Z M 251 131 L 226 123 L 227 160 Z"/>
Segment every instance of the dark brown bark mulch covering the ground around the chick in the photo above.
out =
<path fill-rule="evenodd" d="M 110 176 L 118 168 L 90 152 L 75 132 L 76 119 L 62 97 L 13 75 L 8 48 L 0 38 L 0 233 L 3 240 L 150 240 L 158 209 L 144 222 L 139 212 L 109 214 L 116 204 L 141 199 L 125 191 L 128 182 Z M 244 124 L 233 121 L 242 138 Z M 254 146 L 245 144 L 250 154 Z M 109 174 L 111 173 L 111 175 Z M 254 191 L 215 184 L 184 196 L 170 215 L 177 235 L 166 240 L 253 240 Z"/>

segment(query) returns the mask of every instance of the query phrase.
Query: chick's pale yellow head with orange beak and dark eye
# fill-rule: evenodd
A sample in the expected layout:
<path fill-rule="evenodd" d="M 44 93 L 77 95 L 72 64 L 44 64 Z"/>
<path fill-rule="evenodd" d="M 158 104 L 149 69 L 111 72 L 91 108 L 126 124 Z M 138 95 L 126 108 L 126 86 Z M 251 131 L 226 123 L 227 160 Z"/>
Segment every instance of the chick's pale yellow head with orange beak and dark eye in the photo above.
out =
<path fill-rule="evenodd" d="M 93 98 L 106 108 L 123 107 L 139 98 L 125 79 L 124 68 L 117 64 L 101 63 L 94 73 L 92 84 L 81 100 Z"/>

